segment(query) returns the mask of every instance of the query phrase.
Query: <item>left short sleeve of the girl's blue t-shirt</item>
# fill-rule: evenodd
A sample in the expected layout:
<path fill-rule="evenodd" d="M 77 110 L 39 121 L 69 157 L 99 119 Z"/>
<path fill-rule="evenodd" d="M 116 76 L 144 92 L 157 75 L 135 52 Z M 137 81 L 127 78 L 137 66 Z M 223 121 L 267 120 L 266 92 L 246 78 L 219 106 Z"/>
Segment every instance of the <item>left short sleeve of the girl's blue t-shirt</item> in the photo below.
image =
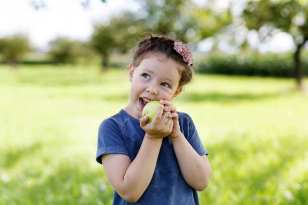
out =
<path fill-rule="evenodd" d="M 104 154 L 128 155 L 124 144 L 121 128 L 112 119 L 104 120 L 98 131 L 96 161 L 102 164 L 101 156 Z"/>

